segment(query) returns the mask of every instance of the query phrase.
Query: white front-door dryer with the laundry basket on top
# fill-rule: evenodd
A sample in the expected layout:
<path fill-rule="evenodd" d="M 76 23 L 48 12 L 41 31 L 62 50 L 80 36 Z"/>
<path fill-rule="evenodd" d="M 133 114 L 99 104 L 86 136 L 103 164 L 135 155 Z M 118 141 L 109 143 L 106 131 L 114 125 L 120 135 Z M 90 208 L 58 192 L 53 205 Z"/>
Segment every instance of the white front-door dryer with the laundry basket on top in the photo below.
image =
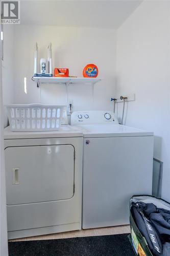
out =
<path fill-rule="evenodd" d="M 81 229 L 82 132 L 4 135 L 8 238 Z"/>

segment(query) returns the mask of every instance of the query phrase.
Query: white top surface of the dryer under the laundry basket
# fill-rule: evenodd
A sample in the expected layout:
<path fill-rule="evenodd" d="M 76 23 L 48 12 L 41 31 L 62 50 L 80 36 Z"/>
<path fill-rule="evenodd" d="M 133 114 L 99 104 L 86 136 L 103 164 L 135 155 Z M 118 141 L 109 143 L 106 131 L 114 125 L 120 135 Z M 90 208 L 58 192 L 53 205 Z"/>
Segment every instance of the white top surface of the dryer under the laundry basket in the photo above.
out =
<path fill-rule="evenodd" d="M 4 129 L 4 139 L 32 139 L 32 138 L 67 138 L 83 137 L 82 131 L 70 125 L 61 125 L 59 131 L 51 132 L 11 132 L 10 126 Z"/>

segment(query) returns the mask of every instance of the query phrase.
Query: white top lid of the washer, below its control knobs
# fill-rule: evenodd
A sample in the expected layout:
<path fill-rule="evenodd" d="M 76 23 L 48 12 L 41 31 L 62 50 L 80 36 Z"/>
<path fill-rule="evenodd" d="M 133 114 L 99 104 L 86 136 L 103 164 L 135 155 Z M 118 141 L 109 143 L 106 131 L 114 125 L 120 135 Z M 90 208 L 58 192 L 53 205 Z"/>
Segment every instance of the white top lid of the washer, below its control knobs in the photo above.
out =
<path fill-rule="evenodd" d="M 125 137 L 125 136 L 153 136 L 153 132 L 146 132 L 133 127 L 110 124 L 110 125 L 80 125 L 77 128 L 83 132 L 84 138 L 89 137 Z"/>

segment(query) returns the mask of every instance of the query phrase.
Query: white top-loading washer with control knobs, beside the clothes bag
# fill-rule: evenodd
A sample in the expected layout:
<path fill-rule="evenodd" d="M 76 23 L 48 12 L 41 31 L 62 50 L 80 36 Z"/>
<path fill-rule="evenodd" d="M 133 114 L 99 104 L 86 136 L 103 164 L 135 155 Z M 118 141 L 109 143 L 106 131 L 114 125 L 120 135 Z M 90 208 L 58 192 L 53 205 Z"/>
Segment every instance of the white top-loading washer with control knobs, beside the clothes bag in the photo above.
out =
<path fill-rule="evenodd" d="M 84 133 L 82 227 L 129 224 L 133 195 L 152 194 L 153 133 L 118 124 L 110 111 L 79 111 Z"/>

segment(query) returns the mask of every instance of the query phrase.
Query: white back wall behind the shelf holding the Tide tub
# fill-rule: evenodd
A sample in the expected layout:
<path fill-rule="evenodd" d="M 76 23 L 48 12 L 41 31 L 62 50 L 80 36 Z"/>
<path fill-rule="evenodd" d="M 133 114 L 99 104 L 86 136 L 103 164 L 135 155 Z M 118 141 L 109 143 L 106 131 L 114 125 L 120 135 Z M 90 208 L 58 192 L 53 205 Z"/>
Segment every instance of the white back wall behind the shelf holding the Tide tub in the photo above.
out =
<path fill-rule="evenodd" d="M 14 86 L 16 103 L 40 102 L 40 90 L 31 80 L 35 42 L 38 42 L 39 59 L 46 57 L 52 42 L 54 67 L 69 68 L 70 75 L 81 77 L 87 63 L 95 63 L 99 76 L 105 78 L 94 86 L 74 84 L 68 88 L 74 110 L 110 109 L 110 98 L 115 92 L 115 31 L 110 29 L 64 28 L 55 26 L 15 26 Z M 27 77 L 27 94 L 23 79 Z M 49 84 L 41 87 L 41 103 L 66 104 L 66 87 Z"/>

